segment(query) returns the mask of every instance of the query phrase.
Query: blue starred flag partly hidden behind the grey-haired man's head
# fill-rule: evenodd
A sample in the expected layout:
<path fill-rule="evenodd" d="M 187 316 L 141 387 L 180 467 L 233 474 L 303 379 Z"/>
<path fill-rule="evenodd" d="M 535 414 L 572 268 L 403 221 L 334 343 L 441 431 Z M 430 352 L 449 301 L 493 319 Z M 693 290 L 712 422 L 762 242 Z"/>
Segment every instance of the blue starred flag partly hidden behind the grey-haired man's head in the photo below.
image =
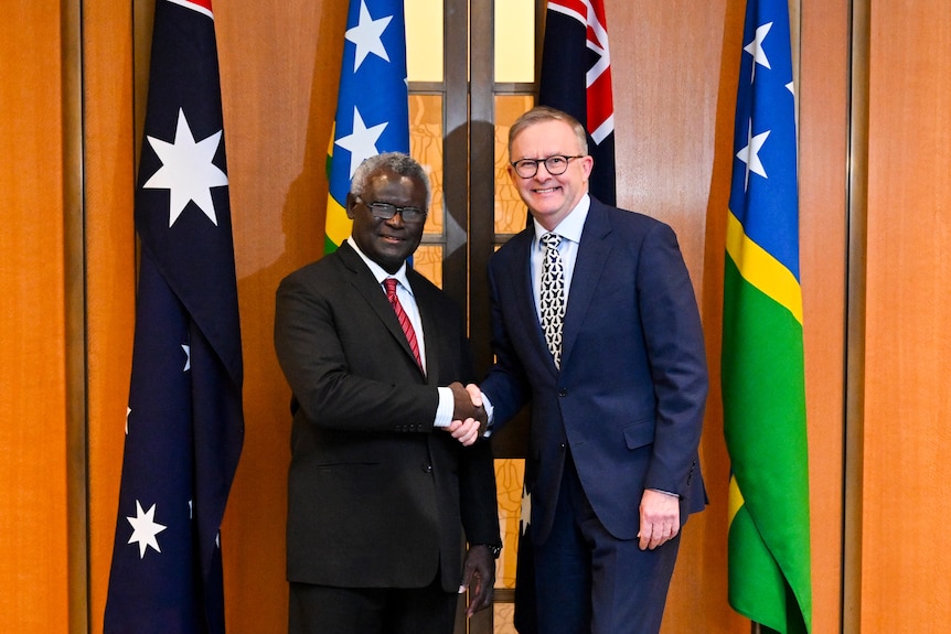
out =
<path fill-rule="evenodd" d="M 346 194 L 365 159 L 409 153 L 406 19 L 403 0 L 350 0 L 333 139 L 328 148 L 324 254 L 350 235 Z"/>

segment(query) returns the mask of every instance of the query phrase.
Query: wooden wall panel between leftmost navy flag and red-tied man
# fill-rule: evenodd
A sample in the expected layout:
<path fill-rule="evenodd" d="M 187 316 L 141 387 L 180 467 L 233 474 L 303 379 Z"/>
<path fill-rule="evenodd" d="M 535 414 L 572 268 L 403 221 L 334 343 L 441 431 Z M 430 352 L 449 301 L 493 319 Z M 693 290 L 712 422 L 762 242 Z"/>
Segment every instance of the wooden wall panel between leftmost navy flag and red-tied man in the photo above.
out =
<path fill-rule="evenodd" d="M 215 19 L 245 363 L 245 444 L 222 530 L 226 616 L 229 632 L 257 634 L 287 621 L 290 389 L 275 291 L 323 247 L 346 2 L 216 2 Z"/>

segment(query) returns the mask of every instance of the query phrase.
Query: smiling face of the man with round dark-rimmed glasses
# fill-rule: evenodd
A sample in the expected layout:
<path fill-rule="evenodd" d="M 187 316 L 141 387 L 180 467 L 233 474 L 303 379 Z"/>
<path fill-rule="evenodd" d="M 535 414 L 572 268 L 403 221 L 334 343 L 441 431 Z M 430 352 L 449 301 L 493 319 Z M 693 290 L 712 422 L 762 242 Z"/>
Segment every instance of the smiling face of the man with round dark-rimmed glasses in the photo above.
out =
<path fill-rule="evenodd" d="M 554 229 L 588 191 L 594 159 L 573 159 L 565 173 L 557 176 L 549 174 L 545 164 L 539 162 L 537 173 L 531 179 L 516 174 L 511 163 L 522 159 L 542 161 L 556 154 L 575 157 L 581 153 L 571 126 L 559 120 L 533 123 L 519 132 L 509 144 L 509 178 L 532 216 L 547 230 Z"/>

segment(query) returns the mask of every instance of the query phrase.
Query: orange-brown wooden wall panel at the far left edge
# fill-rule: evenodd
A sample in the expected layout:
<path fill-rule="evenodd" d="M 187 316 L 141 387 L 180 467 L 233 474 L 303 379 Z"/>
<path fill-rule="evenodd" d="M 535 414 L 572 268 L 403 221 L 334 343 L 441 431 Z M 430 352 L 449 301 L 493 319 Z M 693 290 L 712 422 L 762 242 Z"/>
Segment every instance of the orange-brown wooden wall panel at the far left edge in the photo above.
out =
<path fill-rule="evenodd" d="M 68 621 L 61 9 L 0 21 L 0 623 Z"/>

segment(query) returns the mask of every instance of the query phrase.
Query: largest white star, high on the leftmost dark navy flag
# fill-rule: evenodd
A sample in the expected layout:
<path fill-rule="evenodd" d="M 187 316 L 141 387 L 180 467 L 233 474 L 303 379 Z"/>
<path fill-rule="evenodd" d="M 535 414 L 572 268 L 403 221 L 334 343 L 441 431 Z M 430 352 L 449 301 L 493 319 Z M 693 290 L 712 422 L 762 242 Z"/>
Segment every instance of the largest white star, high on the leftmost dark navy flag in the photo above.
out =
<path fill-rule="evenodd" d="M 169 190 L 169 227 L 175 224 L 191 201 L 217 226 L 211 189 L 228 184 L 227 174 L 212 163 L 222 131 L 195 142 L 185 114 L 180 108 L 174 143 L 154 137 L 147 138 L 162 161 L 162 166 L 142 186 L 147 190 Z"/>

